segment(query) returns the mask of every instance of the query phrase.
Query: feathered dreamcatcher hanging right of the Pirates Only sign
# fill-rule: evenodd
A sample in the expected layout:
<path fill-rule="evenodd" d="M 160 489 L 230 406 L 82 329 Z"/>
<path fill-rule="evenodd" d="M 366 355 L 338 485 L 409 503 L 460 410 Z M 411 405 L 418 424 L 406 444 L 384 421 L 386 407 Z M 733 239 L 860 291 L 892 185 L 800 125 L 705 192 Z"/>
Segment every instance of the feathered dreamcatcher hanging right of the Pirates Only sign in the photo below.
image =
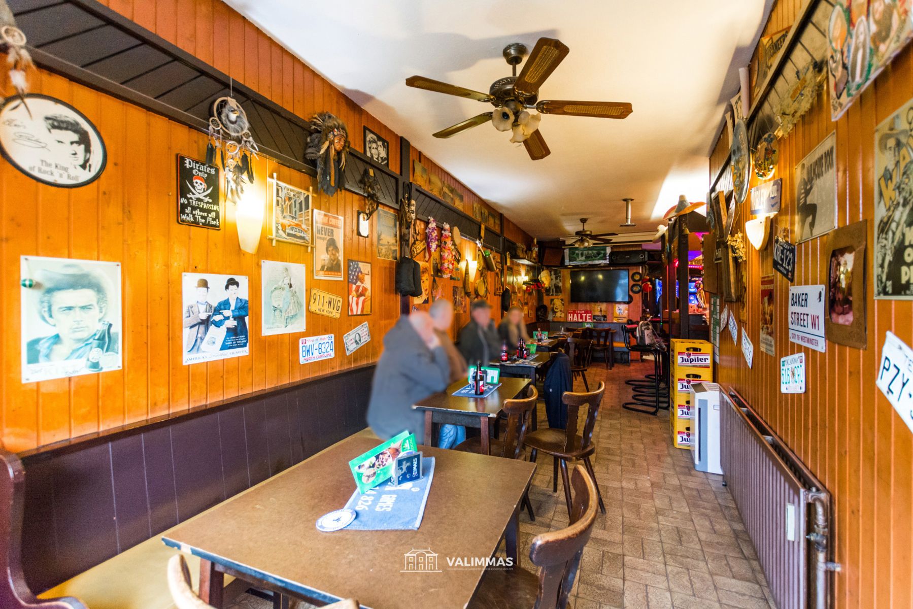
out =
<path fill-rule="evenodd" d="M 249 131 L 247 113 L 234 98 L 219 98 L 213 103 L 213 116 L 209 119 L 209 143 L 206 145 L 206 163 L 215 164 L 218 151 L 219 163 L 226 173 L 226 199 L 237 201 L 244 193 L 244 183 L 254 184 L 254 163 L 257 143 Z"/>

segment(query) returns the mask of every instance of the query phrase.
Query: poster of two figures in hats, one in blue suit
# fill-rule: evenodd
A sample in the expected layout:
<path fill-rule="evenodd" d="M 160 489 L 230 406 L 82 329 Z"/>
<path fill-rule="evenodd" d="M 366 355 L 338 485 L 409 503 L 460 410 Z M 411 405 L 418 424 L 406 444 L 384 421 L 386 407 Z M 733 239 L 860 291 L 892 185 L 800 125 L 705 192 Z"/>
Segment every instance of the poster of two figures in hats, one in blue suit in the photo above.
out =
<path fill-rule="evenodd" d="M 247 277 L 184 273 L 181 283 L 184 365 L 247 355 Z"/>

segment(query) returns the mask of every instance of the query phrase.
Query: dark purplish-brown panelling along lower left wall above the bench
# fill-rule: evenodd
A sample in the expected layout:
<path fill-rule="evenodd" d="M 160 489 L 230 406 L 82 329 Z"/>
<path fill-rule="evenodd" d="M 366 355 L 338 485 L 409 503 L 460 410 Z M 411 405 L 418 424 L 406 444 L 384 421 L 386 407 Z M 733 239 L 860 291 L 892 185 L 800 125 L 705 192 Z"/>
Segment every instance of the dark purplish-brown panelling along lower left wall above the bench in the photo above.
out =
<path fill-rule="evenodd" d="M 374 367 L 20 455 L 39 593 L 362 430 Z"/>

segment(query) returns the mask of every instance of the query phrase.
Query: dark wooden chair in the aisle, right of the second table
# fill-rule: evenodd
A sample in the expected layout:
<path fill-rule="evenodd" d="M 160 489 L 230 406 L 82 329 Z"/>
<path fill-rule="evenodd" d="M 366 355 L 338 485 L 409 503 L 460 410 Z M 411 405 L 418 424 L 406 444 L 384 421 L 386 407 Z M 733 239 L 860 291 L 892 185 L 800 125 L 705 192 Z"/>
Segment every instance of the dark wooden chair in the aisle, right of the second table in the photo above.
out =
<path fill-rule="evenodd" d="M 568 461 L 582 460 L 586 470 L 590 472 L 593 481 L 596 479 L 596 473 L 593 471 L 593 463 L 590 456 L 596 451 L 596 445 L 593 444 L 593 427 L 596 425 L 596 417 L 599 415 L 599 404 L 603 402 L 603 393 L 605 392 L 605 383 L 600 382 L 599 388 L 594 392 L 585 394 L 575 394 L 564 392 L 561 395 L 561 402 L 568 408 L 568 426 L 567 429 L 540 429 L 526 435 L 525 443 L 531 449 L 530 461 L 535 462 L 539 451 L 551 455 L 554 458 L 552 468 L 552 492 L 558 492 L 558 469 L 561 467 L 561 481 L 564 483 L 564 499 L 567 502 L 568 513 L 571 513 L 571 486 L 568 483 Z M 582 406 L 586 406 L 586 418 L 583 427 L 578 433 L 577 426 L 579 414 Z M 599 509 L 605 513 L 603 505 L 603 495 L 599 491 L 599 485 L 596 485 L 596 496 L 599 499 Z"/>

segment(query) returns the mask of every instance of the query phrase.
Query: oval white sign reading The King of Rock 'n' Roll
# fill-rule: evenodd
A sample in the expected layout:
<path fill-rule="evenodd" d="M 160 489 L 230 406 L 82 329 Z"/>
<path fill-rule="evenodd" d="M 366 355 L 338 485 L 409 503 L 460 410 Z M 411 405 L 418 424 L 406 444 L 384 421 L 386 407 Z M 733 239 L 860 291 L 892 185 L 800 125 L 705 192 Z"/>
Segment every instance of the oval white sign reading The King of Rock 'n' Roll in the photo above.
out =
<path fill-rule="evenodd" d="M 99 130 L 66 101 L 26 93 L 0 107 L 0 153 L 33 180 L 76 188 L 105 170 L 108 155 Z"/>

